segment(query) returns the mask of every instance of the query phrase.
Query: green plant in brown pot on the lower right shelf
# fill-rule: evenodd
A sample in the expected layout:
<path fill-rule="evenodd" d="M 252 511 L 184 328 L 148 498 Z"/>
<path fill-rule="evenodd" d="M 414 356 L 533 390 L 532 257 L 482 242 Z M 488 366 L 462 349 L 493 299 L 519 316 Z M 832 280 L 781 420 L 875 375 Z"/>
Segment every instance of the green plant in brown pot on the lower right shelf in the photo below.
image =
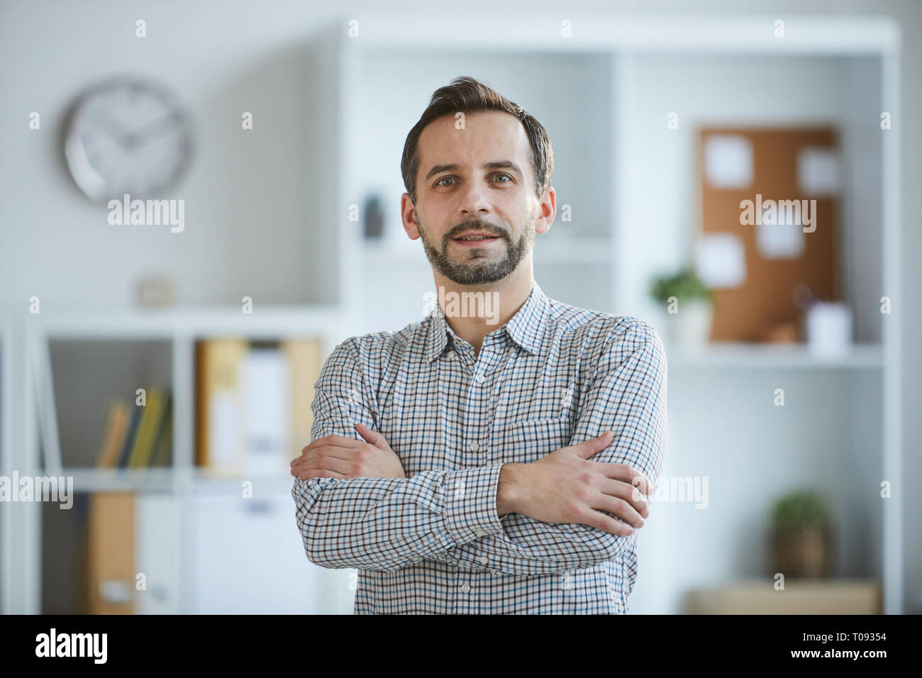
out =
<path fill-rule="evenodd" d="M 826 577 L 830 571 L 831 524 L 820 494 L 798 490 L 772 507 L 774 571 L 785 577 Z"/>

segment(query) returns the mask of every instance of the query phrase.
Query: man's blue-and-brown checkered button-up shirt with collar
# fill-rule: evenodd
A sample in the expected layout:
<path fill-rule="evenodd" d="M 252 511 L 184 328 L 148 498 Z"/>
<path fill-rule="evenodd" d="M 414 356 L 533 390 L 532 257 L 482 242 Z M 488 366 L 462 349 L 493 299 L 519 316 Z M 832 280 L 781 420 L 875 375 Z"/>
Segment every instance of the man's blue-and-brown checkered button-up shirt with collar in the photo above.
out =
<path fill-rule="evenodd" d="M 500 520 L 497 482 L 503 463 L 610 430 L 591 459 L 628 464 L 656 486 L 666 390 L 651 325 L 550 299 L 537 281 L 476 356 L 438 303 L 399 331 L 350 337 L 314 385 L 311 440 L 363 441 L 353 428 L 362 422 L 384 434 L 407 477 L 295 479 L 305 553 L 359 570 L 356 614 L 626 614 L 641 530 Z"/>

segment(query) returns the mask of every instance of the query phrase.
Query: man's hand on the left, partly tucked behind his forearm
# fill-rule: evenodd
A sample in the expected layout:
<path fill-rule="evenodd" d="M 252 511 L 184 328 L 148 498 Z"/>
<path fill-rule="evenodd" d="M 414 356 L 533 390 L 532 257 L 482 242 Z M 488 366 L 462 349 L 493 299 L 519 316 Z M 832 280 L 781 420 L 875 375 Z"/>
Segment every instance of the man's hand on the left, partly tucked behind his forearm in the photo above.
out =
<path fill-rule="evenodd" d="M 325 435 L 301 450 L 291 461 L 291 475 L 308 478 L 406 478 L 403 464 L 387 445 L 384 435 L 357 423 L 355 430 L 366 443 L 345 435 Z"/>

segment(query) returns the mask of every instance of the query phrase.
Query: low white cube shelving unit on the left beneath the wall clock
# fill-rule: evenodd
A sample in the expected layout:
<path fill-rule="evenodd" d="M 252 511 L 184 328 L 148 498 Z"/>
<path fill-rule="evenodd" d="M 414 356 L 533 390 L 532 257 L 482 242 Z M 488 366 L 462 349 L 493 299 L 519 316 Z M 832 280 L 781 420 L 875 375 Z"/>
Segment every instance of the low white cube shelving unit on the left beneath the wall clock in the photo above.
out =
<path fill-rule="evenodd" d="M 171 533 L 175 538 L 171 544 L 173 567 L 171 568 L 171 607 L 172 613 L 199 612 L 191 607 L 195 597 L 191 594 L 195 580 L 195 563 L 190 554 L 195 553 L 196 537 L 194 532 L 195 501 L 199 497 L 219 494 L 229 498 L 240 495 L 242 481 L 254 483 L 254 499 L 265 502 L 270 500 L 272 506 L 290 508 L 284 516 L 277 516 L 278 521 L 290 524 L 290 537 L 297 541 L 297 529 L 294 520 L 294 506 L 290 499 L 292 479 L 285 470 L 275 475 L 253 473 L 236 475 L 219 474 L 211 470 L 195 467 L 195 341 L 215 337 L 242 337 L 246 339 L 284 339 L 315 338 L 320 339 L 324 354 L 328 354 L 336 344 L 345 339 L 342 334 L 342 321 L 337 307 L 285 307 L 254 306 L 253 314 L 243 314 L 240 307 L 209 306 L 206 308 L 187 308 L 171 311 L 124 311 L 100 312 L 87 309 L 84 311 L 69 309 L 65 312 L 43 307 L 41 314 L 30 315 L 28 311 L 16 314 L 12 310 L 4 316 L 3 358 L 4 387 L 0 391 L 23 394 L 23 398 L 4 398 L 4 423 L 13 420 L 12 427 L 4 425 L 4 468 L 18 469 L 23 475 L 42 475 L 41 447 L 39 440 L 29 436 L 30 445 L 21 449 L 21 454 L 13 456 L 16 447 L 11 444 L 11 435 L 25 434 L 24 430 L 34 430 L 38 424 L 36 412 L 32 408 L 30 421 L 33 425 L 17 426 L 11 412 L 14 403 L 19 407 L 28 406 L 35 394 L 30 388 L 30 375 L 26 370 L 11 371 L 10 363 L 18 363 L 14 351 L 6 351 L 10 336 L 22 335 L 26 351 L 46 351 L 48 347 L 55 352 L 77 346 L 77 351 L 91 347 L 96 343 L 115 346 L 141 342 L 149 347 L 150 342 L 162 346 L 167 359 L 169 375 L 160 375 L 171 386 L 174 402 L 172 466 L 146 470 L 114 469 L 102 470 L 91 466 L 73 466 L 68 462 L 75 453 L 73 446 L 62 445 L 64 468 L 54 475 L 63 475 L 73 479 L 74 494 L 100 492 L 138 492 L 142 494 L 169 494 L 174 499 L 176 510 Z M 140 351 L 140 350 L 138 350 Z M 54 361 L 53 361 L 54 362 Z M 160 365 L 158 365 L 160 366 Z M 12 374 L 11 374 L 12 372 Z M 73 385 L 70 385 L 71 387 Z M 55 388 L 60 388 L 60 381 Z M 60 396 L 59 396 L 60 397 Z M 62 410 L 60 403 L 58 410 Z M 12 431 L 11 431 L 12 428 Z M 67 433 L 67 432 L 62 432 Z M 93 441 L 93 447 L 78 449 L 81 458 L 95 458 L 98 441 L 93 437 L 95 430 L 84 432 Z M 13 438 L 15 439 L 15 438 Z M 232 503 L 231 503 L 232 504 Z M 229 504 L 229 505 L 231 505 Z M 42 506 L 34 504 L 11 504 L 13 511 L 3 510 L 0 517 L 4 524 L 0 531 L 3 541 L 3 605 L 5 613 L 41 612 L 41 520 Z M 7 506 L 3 506 L 4 509 Z M 15 515 L 15 517 L 14 517 Z M 16 530 L 10 524 L 16 524 Z M 306 562 L 306 561 L 305 561 Z M 267 566 L 271 563 L 267 562 Z M 307 564 L 307 566 L 311 566 Z M 321 577 L 326 571 L 317 568 Z M 323 585 L 319 591 L 325 591 Z"/>

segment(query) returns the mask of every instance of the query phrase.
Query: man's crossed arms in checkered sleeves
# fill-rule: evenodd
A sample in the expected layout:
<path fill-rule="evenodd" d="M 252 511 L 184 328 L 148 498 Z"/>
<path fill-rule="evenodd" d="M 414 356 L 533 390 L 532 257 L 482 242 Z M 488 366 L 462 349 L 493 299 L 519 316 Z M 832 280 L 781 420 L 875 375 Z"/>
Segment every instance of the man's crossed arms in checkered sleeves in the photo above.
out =
<path fill-rule="evenodd" d="M 318 464 L 311 450 L 323 445 L 318 438 L 324 436 L 334 436 L 347 446 L 340 448 L 345 452 L 339 454 L 343 458 L 349 458 L 350 450 L 367 458 L 367 441 L 377 438 L 384 446 L 372 452 L 386 455 L 390 449 L 384 436 L 371 429 L 371 410 L 364 403 L 373 395 L 360 365 L 354 339 L 349 339 L 337 346 L 321 370 L 314 388 L 313 442 L 301 457 L 313 454 L 314 467 Z M 357 397 L 362 394 L 366 397 Z M 363 424 L 361 431 L 353 427 L 357 423 Z M 424 559 L 511 575 L 552 574 L 598 565 L 617 558 L 636 539 L 627 533 L 627 524 L 600 511 L 585 522 L 610 523 L 618 529 L 606 531 L 583 522 L 531 517 L 526 514 L 540 515 L 533 510 L 540 505 L 540 498 L 533 495 L 526 501 L 521 494 L 507 493 L 504 488 L 509 484 L 505 481 L 516 475 L 510 471 L 524 471 L 521 467 L 544 464 L 542 472 L 547 479 L 549 473 L 561 472 L 565 465 L 575 468 L 576 464 L 586 464 L 574 451 L 582 448 L 582 458 L 591 457 L 591 462 L 579 468 L 594 470 L 590 475 L 596 484 L 606 482 L 605 476 L 615 477 L 610 471 L 621 465 L 630 465 L 656 482 L 665 454 L 666 429 L 665 354 L 653 328 L 638 323 L 609 340 L 580 402 L 571 446 L 535 464 L 506 464 L 505 469 L 497 463 L 459 470 L 423 470 L 411 478 L 399 477 L 402 469 L 394 473 L 396 477 L 348 477 L 342 472 L 344 467 L 337 466 L 340 471 L 309 471 L 328 477 L 295 480 L 291 494 L 305 553 L 313 563 L 325 567 L 389 572 Z M 602 444 L 594 448 L 600 451 L 585 452 L 590 443 L 581 441 L 606 431 L 613 434 L 610 444 L 603 448 L 607 439 L 600 438 Z M 554 456 L 565 463 L 552 467 L 550 458 Z M 325 468 L 332 469 L 332 463 Z M 590 477 L 584 472 L 578 475 Z M 573 482 L 575 479 L 572 476 Z M 650 492 L 647 484 L 644 494 Z M 515 511 L 501 521 L 498 506 L 505 510 L 514 507 Z M 583 520 L 588 514 L 579 515 Z"/>

